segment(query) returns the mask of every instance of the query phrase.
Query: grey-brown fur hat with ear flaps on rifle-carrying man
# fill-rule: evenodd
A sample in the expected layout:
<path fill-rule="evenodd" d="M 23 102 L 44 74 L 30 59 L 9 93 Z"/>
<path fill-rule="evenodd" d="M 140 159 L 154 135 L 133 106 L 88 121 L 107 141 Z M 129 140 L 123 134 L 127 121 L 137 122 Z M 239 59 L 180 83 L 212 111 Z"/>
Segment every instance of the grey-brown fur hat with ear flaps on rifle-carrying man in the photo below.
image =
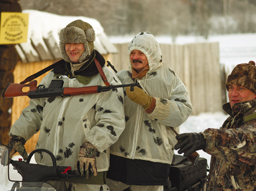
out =
<path fill-rule="evenodd" d="M 84 53 L 82 53 L 79 59 L 79 62 L 82 63 L 93 52 L 93 49 L 94 49 L 93 41 L 95 41 L 95 31 L 90 24 L 82 20 L 75 20 L 60 31 L 59 39 L 60 39 L 60 43 L 59 43 L 60 53 L 63 56 L 63 60 L 65 60 L 66 62 L 71 62 L 71 60 L 66 53 L 65 44 L 66 43 L 83 43 L 84 44 L 85 51 Z"/>

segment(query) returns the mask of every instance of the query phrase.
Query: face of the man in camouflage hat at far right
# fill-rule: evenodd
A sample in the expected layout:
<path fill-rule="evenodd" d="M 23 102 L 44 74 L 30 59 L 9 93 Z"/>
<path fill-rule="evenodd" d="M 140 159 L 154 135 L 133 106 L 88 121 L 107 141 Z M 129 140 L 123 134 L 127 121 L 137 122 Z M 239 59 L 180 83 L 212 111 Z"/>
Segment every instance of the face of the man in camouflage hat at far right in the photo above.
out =
<path fill-rule="evenodd" d="M 237 102 L 250 101 L 255 99 L 255 93 L 243 86 L 229 86 L 229 101 L 231 108 Z"/>

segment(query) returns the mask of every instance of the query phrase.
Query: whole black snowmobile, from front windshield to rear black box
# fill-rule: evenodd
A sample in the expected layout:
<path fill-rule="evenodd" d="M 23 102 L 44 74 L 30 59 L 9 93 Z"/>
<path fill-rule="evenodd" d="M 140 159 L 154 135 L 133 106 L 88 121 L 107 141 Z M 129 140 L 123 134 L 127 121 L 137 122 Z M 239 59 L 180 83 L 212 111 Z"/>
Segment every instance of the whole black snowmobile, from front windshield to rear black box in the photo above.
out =
<path fill-rule="evenodd" d="M 46 152 L 52 159 L 52 166 L 45 166 L 30 163 L 32 156 L 36 152 Z M 11 160 L 10 164 L 21 176 L 22 180 L 11 180 L 8 147 L 0 143 L 0 161 L 1 165 L 8 168 L 8 180 L 13 182 L 10 190 L 7 191 L 58 191 L 48 180 L 68 179 L 71 177 L 80 177 L 72 171 L 71 166 L 57 166 L 56 158 L 46 149 L 36 149 L 29 154 L 26 161 Z M 199 191 L 206 180 L 207 160 L 198 158 L 196 164 L 181 155 L 175 155 L 175 161 L 170 165 L 169 184 L 164 190 L 168 191 Z M 9 189 L 9 188 L 8 188 Z M 126 189 L 126 191 L 129 190 Z"/>

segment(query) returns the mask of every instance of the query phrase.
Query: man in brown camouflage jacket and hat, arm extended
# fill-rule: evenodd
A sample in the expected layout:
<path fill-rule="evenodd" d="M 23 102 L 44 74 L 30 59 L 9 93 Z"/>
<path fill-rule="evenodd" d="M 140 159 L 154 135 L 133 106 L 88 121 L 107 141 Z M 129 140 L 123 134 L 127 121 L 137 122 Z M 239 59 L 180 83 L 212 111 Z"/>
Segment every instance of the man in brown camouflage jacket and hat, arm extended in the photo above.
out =
<path fill-rule="evenodd" d="M 228 76 L 230 116 L 220 129 L 177 135 L 175 149 L 189 156 L 203 149 L 211 157 L 204 190 L 256 190 L 256 67 L 253 61 L 238 64 Z"/>

